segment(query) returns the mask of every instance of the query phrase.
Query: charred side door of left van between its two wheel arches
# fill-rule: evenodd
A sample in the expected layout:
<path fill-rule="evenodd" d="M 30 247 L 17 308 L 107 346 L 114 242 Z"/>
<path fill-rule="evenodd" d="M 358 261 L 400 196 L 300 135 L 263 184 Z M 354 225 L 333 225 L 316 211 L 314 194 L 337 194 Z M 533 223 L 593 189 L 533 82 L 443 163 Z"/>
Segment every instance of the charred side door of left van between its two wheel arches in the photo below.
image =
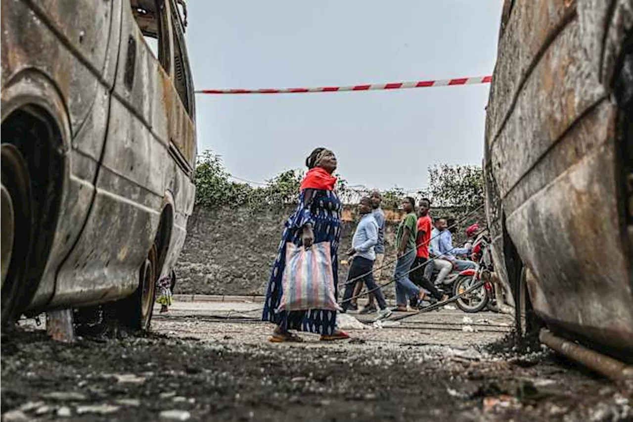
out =
<path fill-rule="evenodd" d="M 151 98 L 160 66 L 123 1 L 115 92 L 127 90 L 130 38 L 135 42 L 132 91 L 138 108 L 111 98 L 110 122 L 97 195 L 80 240 L 60 270 L 53 306 L 123 297 L 138 285 L 138 269 L 154 240 L 165 192 L 166 144 L 151 132 Z M 144 118 L 145 117 L 145 118 Z"/>

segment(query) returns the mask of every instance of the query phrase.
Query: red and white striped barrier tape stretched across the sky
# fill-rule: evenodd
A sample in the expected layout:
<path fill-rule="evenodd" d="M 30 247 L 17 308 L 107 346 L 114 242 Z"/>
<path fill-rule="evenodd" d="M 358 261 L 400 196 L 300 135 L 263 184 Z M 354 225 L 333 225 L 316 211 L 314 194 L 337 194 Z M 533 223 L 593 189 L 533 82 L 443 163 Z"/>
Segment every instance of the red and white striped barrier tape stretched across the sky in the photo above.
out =
<path fill-rule="evenodd" d="M 382 91 L 385 89 L 427 88 L 433 86 L 456 86 L 489 84 L 492 76 L 470 78 L 419 80 L 417 82 L 391 82 L 389 84 L 367 84 L 353 86 L 324 86 L 316 88 L 279 88 L 279 89 L 201 89 L 196 94 L 303 94 L 303 93 L 339 93 L 341 91 Z"/>

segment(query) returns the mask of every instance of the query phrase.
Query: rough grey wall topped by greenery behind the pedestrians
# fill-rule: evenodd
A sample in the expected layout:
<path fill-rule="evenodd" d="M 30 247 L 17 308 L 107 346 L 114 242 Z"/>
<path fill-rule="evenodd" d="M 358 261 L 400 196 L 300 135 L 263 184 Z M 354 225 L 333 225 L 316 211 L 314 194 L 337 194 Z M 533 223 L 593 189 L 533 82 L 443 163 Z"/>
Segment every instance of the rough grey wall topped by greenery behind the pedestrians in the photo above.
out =
<path fill-rule="evenodd" d="M 294 206 L 261 210 L 196 207 L 187 224 L 187 240 L 176 267 L 175 293 L 265 294 L 284 223 L 293 211 Z M 354 208 L 346 208 L 342 214 L 339 261 L 346 259 L 343 254 L 351 246 L 357 218 Z M 387 213 L 385 262 L 395 259 L 394 240 L 400 218 L 398 212 Z M 347 271 L 346 265 L 339 265 L 339 280 L 346 279 Z M 385 277 L 392 272 L 392 267 L 385 270 Z M 385 294 L 392 293 L 390 286 Z"/>

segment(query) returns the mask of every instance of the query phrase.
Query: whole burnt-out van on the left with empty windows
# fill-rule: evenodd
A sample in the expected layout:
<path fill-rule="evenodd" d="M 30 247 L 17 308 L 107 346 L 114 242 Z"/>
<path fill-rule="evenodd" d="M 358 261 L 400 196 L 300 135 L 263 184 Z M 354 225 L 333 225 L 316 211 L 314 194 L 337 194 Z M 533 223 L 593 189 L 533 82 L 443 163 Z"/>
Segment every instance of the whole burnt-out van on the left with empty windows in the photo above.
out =
<path fill-rule="evenodd" d="M 106 302 L 149 326 L 194 203 L 184 6 L 0 0 L 3 326 Z"/>

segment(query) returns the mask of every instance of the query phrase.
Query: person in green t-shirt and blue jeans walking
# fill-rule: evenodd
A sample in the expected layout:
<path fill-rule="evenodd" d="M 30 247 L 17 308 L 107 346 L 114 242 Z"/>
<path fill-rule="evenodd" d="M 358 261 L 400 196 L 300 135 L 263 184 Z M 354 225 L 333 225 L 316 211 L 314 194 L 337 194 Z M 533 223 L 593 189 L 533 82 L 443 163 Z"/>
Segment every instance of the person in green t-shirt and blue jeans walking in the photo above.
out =
<path fill-rule="evenodd" d="M 425 291 L 420 290 L 409 278 L 408 272 L 415 261 L 417 246 L 415 239 L 418 236 L 418 216 L 415 214 L 415 200 L 407 196 L 402 202 L 406 215 L 398 226 L 396 245 L 398 246 L 398 263 L 394 272 L 396 279 L 396 310 L 406 312 L 407 297 L 416 298 L 418 302 L 425 298 Z"/>

